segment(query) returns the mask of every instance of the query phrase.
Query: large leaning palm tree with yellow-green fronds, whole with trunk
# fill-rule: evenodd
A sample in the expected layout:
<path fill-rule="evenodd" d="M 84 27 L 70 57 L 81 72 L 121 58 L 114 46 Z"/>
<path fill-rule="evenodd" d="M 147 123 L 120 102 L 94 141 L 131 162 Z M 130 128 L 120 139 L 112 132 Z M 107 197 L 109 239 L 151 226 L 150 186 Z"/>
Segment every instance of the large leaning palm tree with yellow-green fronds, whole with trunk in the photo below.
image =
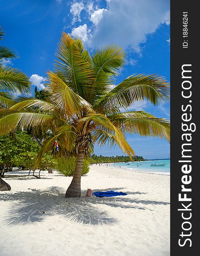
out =
<path fill-rule="evenodd" d="M 83 159 L 95 143 L 117 144 L 131 157 L 134 151 L 125 140 L 127 133 L 170 140 L 167 120 L 145 111 L 128 111 L 134 101 L 147 100 L 154 105 L 168 101 L 169 84 L 160 76 L 135 74 L 115 86 L 126 58 L 117 45 L 90 56 L 80 39 L 63 32 L 56 56 L 54 72 L 47 73 L 49 97 L 46 101 L 27 99 L 0 111 L 0 133 L 20 127 L 50 129 L 54 137 L 43 144 L 35 167 L 57 140 L 59 150 L 77 157 L 66 197 L 80 197 Z"/>

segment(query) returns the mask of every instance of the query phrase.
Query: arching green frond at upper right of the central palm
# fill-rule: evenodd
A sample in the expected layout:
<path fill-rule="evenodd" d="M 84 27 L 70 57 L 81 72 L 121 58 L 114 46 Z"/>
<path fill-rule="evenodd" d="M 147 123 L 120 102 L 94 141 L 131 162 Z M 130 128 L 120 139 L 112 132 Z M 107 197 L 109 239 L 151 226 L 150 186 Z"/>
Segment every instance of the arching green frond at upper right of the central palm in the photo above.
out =
<path fill-rule="evenodd" d="M 97 100 L 93 107 L 103 113 L 113 109 L 128 108 L 135 101 L 147 100 L 154 105 L 169 101 L 169 84 L 157 75 L 129 76 L 107 95 Z"/>

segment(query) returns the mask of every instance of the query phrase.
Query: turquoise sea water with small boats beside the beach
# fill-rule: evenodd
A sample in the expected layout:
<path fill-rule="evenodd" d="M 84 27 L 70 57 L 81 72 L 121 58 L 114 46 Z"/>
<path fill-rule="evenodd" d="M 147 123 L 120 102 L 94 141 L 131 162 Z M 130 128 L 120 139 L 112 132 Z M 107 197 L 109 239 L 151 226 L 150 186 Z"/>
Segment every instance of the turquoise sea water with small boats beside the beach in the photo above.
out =
<path fill-rule="evenodd" d="M 165 166 L 151 166 L 151 164 L 162 164 L 167 163 Z M 128 162 L 128 163 L 110 163 L 110 167 L 128 169 L 138 172 L 151 172 L 170 175 L 170 159 L 159 159 L 159 160 L 147 160 L 140 162 Z"/>

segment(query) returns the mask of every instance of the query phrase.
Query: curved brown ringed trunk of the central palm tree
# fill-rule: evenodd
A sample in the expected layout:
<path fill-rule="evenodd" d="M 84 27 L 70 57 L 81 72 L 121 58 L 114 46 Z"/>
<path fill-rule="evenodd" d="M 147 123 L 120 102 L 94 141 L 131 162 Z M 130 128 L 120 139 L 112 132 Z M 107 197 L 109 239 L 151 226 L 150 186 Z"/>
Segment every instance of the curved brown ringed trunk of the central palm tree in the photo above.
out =
<path fill-rule="evenodd" d="M 75 198 L 81 196 L 81 172 L 83 167 L 83 158 L 84 154 L 79 153 L 76 160 L 74 177 L 65 194 L 66 198 Z"/>

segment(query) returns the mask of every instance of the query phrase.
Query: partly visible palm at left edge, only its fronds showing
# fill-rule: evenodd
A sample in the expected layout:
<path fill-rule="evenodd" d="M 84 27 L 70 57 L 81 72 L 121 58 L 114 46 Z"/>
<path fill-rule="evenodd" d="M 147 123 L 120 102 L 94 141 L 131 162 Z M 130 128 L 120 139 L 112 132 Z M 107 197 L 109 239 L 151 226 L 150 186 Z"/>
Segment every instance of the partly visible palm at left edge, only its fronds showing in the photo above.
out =
<path fill-rule="evenodd" d="M 0 40 L 5 33 L 0 27 Z M 17 68 L 6 67 L 3 65 L 5 60 L 16 58 L 17 55 L 9 48 L 0 46 L 0 105 L 12 105 L 9 91 L 17 93 L 27 93 L 30 90 L 29 78 Z"/>

